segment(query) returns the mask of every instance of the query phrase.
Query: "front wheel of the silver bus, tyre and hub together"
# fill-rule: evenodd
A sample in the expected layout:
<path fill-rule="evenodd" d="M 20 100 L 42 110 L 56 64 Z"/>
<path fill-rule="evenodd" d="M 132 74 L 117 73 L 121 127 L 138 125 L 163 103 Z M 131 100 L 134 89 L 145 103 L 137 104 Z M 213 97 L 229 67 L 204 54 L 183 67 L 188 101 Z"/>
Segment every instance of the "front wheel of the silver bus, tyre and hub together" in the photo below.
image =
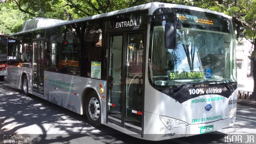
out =
<path fill-rule="evenodd" d="M 86 100 L 86 116 L 93 126 L 100 126 L 100 100 L 96 92 L 89 92 Z"/>

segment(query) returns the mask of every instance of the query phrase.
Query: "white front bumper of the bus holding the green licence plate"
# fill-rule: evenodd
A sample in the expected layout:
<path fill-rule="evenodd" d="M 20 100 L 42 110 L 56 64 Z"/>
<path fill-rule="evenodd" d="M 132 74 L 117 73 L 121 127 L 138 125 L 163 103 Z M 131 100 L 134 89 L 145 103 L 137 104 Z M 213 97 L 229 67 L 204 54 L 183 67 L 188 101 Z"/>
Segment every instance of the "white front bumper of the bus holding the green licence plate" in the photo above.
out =
<path fill-rule="evenodd" d="M 204 134 L 221 130 L 234 125 L 235 118 L 220 119 L 214 122 L 208 122 L 204 124 L 188 124 L 184 127 L 176 127 L 169 130 L 160 120 L 158 114 L 145 112 L 146 122 L 144 128 L 145 140 L 167 140 L 172 138 L 179 138 L 185 136 L 193 136 L 197 134 Z M 203 130 L 202 130 L 203 129 Z"/>

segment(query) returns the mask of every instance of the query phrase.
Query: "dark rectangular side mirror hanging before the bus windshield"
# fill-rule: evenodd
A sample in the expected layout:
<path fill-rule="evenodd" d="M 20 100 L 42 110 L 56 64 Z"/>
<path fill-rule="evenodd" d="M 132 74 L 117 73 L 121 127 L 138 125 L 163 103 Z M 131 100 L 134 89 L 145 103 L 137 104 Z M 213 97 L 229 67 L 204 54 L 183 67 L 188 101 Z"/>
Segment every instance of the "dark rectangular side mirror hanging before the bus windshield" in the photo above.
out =
<path fill-rule="evenodd" d="M 176 23 L 166 23 L 164 28 L 165 47 L 168 49 L 176 48 Z"/>

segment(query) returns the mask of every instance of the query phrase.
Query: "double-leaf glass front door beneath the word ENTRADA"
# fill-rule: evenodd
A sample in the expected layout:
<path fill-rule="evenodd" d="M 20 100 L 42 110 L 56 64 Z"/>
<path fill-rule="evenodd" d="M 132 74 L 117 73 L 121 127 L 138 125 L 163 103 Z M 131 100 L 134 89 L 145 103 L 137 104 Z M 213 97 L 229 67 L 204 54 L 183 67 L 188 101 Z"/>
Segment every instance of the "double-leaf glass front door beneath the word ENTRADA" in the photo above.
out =
<path fill-rule="evenodd" d="M 144 34 L 110 36 L 108 122 L 142 133 Z"/>

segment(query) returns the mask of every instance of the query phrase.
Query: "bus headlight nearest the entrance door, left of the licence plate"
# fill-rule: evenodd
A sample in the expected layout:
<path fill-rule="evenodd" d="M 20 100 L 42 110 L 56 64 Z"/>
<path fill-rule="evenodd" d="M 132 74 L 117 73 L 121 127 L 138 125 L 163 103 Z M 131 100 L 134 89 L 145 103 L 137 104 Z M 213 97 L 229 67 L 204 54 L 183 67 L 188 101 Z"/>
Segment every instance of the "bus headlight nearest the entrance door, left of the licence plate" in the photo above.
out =
<path fill-rule="evenodd" d="M 188 125 L 186 122 L 183 122 L 181 120 L 176 120 L 174 118 L 169 118 L 169 117 L 161 116 L 161 115 L 160 115 L 160 120 L 166 126 L 166 128 L 168 128 L 169 130 L 171 130 L 172 128 L 175 128 L 175 127 L 182 127 L 182 126 Z"/>

